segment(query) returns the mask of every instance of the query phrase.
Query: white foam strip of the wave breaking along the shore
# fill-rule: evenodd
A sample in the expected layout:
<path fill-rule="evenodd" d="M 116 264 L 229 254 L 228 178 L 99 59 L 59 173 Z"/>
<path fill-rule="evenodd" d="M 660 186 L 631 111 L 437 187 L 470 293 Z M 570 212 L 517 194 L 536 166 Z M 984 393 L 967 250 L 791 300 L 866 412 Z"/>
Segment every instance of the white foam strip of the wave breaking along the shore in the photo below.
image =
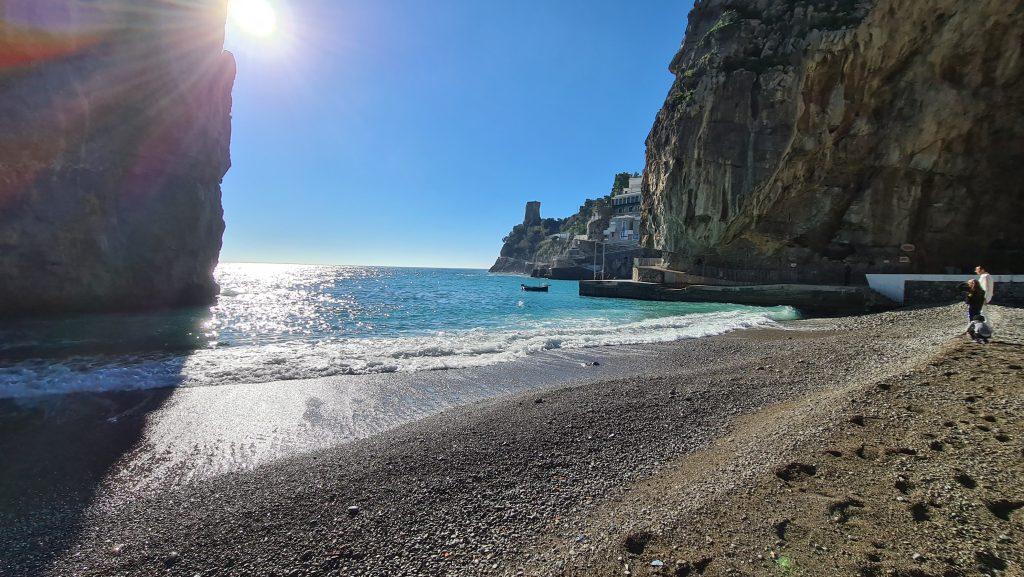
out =
<path fill-rule="evenodd" d="M 478 367 L 556 348 L 669 342 L 772 326 L 792 310 L 741 310 L 615 324 L 549 321 L 529 330 L 470 330 L 402 338 L 295 340 L 187 355 L 73 357 L 0 366 L 0 398 L 266 382 L 334 375 Z"/>

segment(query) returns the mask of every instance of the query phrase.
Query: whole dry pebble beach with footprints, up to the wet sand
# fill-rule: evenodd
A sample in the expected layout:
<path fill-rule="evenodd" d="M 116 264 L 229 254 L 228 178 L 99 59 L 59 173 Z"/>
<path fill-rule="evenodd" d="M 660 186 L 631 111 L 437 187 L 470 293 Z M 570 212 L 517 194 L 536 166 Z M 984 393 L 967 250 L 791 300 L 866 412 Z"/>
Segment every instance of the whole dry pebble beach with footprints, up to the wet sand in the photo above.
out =
<path fill-rule="evenodd" d="M 33 470 L 18 462 L 0 574 L 1019 570 L 1024 335 L 1019 311 L 994 308 L 987 345 L 957 337 L 946 306 L 609 355 L 636 376 L 562 379 L 146 491 L 119 477 L 123 457 L 52 494 L 7 482 Z M 31 429 L 15 417 L 5 427 Z M 981 521 L 951 547 L 957 514 Z"/>

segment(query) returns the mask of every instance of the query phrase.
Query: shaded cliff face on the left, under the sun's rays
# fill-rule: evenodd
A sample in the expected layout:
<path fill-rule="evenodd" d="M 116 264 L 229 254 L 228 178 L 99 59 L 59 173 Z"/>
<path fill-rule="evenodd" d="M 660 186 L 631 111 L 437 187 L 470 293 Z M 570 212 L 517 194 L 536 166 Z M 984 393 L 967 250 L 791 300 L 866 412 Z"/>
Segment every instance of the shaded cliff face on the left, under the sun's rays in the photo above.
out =
<path fill-rule="evenodd" d="M 210 301 L 234 79 L 224 0 L 2 15 L 0 314 Z"/>

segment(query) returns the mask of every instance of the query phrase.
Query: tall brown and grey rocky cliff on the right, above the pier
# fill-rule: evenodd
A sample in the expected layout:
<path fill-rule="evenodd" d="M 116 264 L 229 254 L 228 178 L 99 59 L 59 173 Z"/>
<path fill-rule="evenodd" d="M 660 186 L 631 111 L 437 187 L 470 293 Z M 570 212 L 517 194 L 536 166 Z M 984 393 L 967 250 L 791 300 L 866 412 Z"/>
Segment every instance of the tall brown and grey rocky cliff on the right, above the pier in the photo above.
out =
<path fill-rule="evenodd" d="M 1022 45 L 1022 0 L 698 0 L 644 243 L 802 281 L 1021 269 Z"/>

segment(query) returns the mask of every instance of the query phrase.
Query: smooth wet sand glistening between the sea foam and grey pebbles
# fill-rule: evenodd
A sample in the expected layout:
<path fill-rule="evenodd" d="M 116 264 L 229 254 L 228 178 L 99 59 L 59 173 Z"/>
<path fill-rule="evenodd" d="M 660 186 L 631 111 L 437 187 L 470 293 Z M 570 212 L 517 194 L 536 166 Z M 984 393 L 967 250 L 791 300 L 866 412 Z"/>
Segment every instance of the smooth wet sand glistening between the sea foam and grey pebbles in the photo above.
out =
<path fill-rule="evenodd" d="M 4 399 L 0 425 L 7 423 L 12 462 L 24 464 L 43 451 L 54 453 L 57 461 L 67 458 L 63 454 L 89 455 L 94 445 L 114 445 L 122 455 L 94 465 L 117 465 L 108 482 L 114 480 L 122 491 L 168 489 L 351 443 L 476 403 L 656 377 L 676 367 L 673 354 L 689 342 L 758 338 L 803 323 L 813 326 L 808 320 L 780 321 L 777 327 L 653 344 L 545 351 L 479 367 Z M 266 406 L 273 410 L 263 411 Z M 44 450 L 44 443 L 54 448 Z M 246 449 L 238 451 L 242 446 Z M 0 486 L 19 477 L 26 473 L 17 466 L 2 470 Z"/>

